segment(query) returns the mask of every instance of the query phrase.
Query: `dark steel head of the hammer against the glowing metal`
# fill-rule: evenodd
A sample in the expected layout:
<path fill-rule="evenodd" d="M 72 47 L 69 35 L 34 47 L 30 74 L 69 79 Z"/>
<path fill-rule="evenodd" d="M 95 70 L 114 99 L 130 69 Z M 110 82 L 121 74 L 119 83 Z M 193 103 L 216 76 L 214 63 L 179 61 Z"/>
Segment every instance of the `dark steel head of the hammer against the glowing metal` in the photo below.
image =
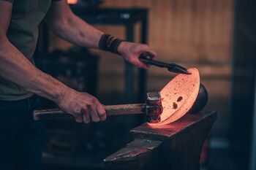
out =
<path fill-rule="evenodd" d="M 161 121 L 162 102 L 159 92 L 147 93 L 146 120 L 148 123 L 159 123 Z"/>

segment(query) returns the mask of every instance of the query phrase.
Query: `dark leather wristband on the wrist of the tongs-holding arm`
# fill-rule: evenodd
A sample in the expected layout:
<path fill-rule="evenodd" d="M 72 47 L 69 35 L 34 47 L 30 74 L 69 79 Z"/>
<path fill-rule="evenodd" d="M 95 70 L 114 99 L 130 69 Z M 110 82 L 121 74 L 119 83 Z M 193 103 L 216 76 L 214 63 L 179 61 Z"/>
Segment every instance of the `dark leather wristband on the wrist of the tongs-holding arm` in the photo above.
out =
<path fill-rule="evenodd" d="M 114 36 L 111 36 L 110 34 L 103 34 L 99 39 L 99 49 L 120 54 L 118 53 L 117 49 L 120 43 L 123 41 L 124 40 L 118 39 Z"/>

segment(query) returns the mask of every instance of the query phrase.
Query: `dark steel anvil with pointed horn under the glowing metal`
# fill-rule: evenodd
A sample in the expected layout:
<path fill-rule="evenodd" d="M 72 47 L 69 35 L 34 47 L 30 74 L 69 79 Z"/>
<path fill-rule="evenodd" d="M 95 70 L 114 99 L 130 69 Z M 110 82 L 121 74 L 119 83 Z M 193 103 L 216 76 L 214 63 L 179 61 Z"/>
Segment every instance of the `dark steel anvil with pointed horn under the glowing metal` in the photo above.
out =
<path fill-rule="evenodd" d="M 200 170 L 200 152 L 215 120 L 216 112 L 201 111 L 159 128 L 144 123 L 130 131 L 133 141 L 104 163 L 116 170 Z"/>

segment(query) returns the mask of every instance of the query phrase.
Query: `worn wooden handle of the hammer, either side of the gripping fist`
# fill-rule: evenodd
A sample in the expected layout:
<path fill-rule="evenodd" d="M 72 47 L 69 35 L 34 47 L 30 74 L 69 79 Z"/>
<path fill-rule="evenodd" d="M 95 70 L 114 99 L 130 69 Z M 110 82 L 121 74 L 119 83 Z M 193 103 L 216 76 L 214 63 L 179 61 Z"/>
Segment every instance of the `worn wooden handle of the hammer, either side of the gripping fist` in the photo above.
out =
<path fill-rule="evenodd" d="M 143 114 L 146 109 L 146 104 L 120 104 L 105 106 L 107 116 L 113 115 L 135 115 Z M 59 118 L 73 118 L 72 115 L 61 109 L 42 109 L 34 110 L 34 120 L 53 120 Z"/>

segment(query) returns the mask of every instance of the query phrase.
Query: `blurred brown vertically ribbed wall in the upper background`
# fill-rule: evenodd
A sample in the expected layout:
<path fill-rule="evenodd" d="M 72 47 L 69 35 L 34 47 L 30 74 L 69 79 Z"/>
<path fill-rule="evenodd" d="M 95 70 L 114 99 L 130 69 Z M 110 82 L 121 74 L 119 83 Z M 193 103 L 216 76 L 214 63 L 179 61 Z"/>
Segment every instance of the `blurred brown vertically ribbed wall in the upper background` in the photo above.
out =
<path fill-rule="evenodd" d="M 107 0 L 103 7 L 150 9 L 148 42 L 161 58 L 193 62 L 230 59 L 232 0 Z"/>

